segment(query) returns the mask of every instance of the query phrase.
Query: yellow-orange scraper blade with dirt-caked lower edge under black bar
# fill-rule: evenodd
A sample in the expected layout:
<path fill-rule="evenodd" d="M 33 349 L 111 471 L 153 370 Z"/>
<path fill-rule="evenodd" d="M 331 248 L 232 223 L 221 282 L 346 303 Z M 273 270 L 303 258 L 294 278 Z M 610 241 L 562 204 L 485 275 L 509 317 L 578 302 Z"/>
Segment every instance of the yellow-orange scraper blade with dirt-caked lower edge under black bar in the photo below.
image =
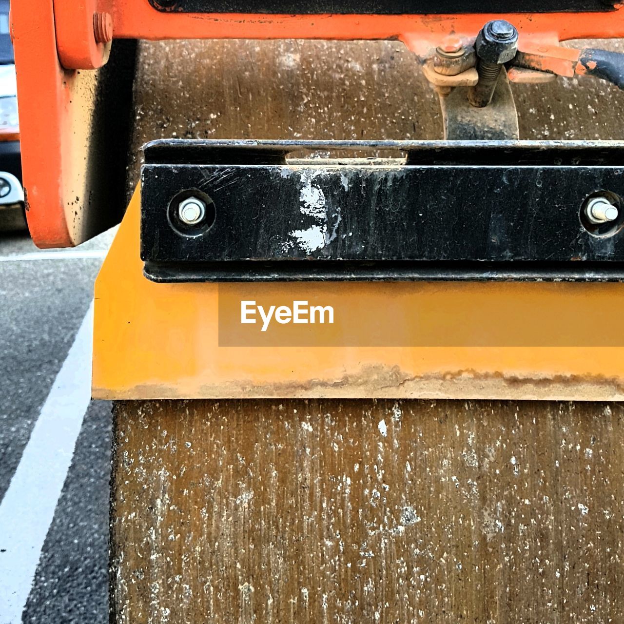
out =
<path fill-rule="evenodd" d="M 96 398 L 624 399 L 624 341 L 596 333 L 592 342 L 580 329 L 624 307 L 619 284 L 157 284 L 139 258 L 139 204 L 137 190 L 95 283 Z M 283 326 L 304 328 L 299 347 L 249 324 L 244 331 L 255 337 L 236 337 L 240 296 L 275 302 L 332 292 L 342 322 Z M 429 336 L 418 328 L 422 317 L 412 322 L 422 310 Z M 378 329 L 366 320 L 375 317 Z M 383 346 L 388 325 L 414 329 L 401 334 L 404 343 Z M 435 335 L 442 326 L 452 337 Z M 361 346 L 347 334 L 363 337 Z M 499 346 L 490 346 L 493 336 Z"/>

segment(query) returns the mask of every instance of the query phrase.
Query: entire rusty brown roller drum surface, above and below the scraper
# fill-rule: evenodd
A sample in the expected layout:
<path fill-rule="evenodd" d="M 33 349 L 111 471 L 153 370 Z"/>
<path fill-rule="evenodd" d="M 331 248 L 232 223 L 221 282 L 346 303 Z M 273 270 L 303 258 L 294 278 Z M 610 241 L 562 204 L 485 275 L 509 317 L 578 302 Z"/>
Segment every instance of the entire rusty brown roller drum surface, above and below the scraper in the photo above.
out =
<path fill-rule="evenodd" d="M 139 47 L 134 154 L 168 137 L 442 137 L 398 42 Z M 624 139 L 612 85 L 512 89 L 521 139 Z M 114 417 L 117 622 L 624 619 L 621 404 L 127 401 Z"/>

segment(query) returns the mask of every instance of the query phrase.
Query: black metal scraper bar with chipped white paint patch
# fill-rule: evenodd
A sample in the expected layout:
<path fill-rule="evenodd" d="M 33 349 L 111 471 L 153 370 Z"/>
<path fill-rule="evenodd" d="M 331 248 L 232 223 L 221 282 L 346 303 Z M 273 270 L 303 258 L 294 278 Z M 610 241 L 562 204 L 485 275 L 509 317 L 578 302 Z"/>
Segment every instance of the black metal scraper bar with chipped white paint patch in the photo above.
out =
<path fill-rule="evenodd" d="M 291 152 L 393 150 L 405 160 Z M 141 256 L 155 281 L 621 280 L 616 142 L 145 146 Z M 588 198 L 618 218 L 588 223 Z M 205 207 L 180 222 L 188 198 Z"/>

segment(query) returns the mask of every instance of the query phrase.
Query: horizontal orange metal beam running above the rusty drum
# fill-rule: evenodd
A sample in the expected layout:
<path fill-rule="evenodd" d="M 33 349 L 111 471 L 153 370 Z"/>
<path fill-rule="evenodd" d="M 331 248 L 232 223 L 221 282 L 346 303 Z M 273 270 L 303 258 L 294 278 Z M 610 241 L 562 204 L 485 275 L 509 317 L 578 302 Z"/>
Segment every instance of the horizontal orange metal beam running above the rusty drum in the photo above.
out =
<path fill-rule="evenodd" d="M 83 0 L 84 1 L 84 0 Z M 95 1 L 95 0 L 92 0 Z M 55 0 L 55 6 L 72 0 Z M 130 39 L 399 39 L 421 57 L 449 34 L 464 41 L 494 14 L 457 15 L 264 15 L 155 11 L 139 0 L 99 0 L 112 15 L 115 38 Z M 624 35 L 624 12 L 505 14 L 523 41 L 548 42 Z M 82 24 L 74 24 L 76 28 Z M 69 36 L 69 33 L 68 33 Z M 84 37 L 82 37 L 84 39 Z M 65 46 L 66 44 L 63 44 Z"/>

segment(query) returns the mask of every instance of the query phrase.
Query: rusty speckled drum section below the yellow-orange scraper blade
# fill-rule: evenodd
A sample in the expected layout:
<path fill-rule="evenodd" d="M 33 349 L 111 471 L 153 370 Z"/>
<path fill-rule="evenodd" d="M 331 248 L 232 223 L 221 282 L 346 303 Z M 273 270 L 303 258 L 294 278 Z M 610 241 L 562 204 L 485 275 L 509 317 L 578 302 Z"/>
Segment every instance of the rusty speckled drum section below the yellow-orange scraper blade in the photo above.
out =
<path fill-rule="evenodd" d="M 622 405 L 120 402 L 115 422 L 117 622 L 624 618 Z"/>

